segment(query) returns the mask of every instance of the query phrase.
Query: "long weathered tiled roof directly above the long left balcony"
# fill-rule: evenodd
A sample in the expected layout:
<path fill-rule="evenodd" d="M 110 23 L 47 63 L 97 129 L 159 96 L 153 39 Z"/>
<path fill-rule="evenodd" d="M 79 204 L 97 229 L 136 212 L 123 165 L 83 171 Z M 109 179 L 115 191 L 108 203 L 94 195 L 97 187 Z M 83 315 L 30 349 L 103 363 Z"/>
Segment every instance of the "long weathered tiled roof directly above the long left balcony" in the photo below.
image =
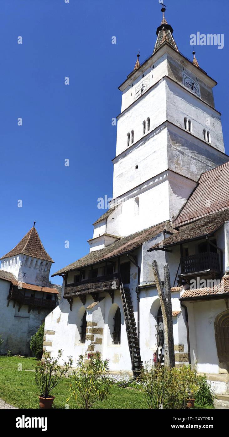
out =
<path fill-rule="evenodd" d="M 131 250 L 136 249 L 141 246 L 142 243 L 148 241 L 155 236 L 157 236 L 162 231 L 166 230 L 166 232 L 176 232 L 170 222 L 163 222 L 159 225 L 152 226 L 148 229 L 144 229 L 143 231 L 136 232 L 135 234 L 131 234 L 127 237 L 122 237 L 118 241 L 110 244 L 108 247 L 104 249 L 95 250 L 94 252 L 88 253 L 83 258 L 75 261 L 72 264 L 58 270 L 52 276 L 61 275 L 71 270 L 77 270 L 83 267 L 90 266 L 91 264 L 98 263 L 103 260 L 108 260 L 111 257 L 115 257 L 121 255 L 123 253 L 130 252 Z"/>

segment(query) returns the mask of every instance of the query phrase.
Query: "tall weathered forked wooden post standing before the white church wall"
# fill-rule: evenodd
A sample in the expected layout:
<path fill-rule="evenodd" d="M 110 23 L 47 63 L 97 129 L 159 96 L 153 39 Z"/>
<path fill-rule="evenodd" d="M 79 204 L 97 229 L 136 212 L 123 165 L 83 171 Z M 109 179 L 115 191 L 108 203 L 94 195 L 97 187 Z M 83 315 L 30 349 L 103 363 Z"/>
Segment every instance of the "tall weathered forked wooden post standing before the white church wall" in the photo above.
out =
<path fill-rule="evenodd" d="M 154 262 L 152 263 L 152 269 L 162 309 L 164 329 L 164 365 L 167 367 L 175 367 L 169 267 L 168 264 L 165 264 L 164 266 L 165 293 L 162 287 L 162 281 L 159 275 L 158 263 L 156 260 L 154 260 Z"/>

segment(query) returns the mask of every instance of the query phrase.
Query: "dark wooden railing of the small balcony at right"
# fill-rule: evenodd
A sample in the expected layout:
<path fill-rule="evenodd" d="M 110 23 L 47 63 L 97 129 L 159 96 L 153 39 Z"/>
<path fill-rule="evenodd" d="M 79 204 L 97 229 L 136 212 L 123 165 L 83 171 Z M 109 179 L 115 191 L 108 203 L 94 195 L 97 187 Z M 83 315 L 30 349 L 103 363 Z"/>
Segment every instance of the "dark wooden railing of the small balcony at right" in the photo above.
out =
<path fill-rule="evenodd" d="M 220 273 L 219 253 L 204 252 L 181 258 L 181 273 L 197 273 L 212 270 Z"/>

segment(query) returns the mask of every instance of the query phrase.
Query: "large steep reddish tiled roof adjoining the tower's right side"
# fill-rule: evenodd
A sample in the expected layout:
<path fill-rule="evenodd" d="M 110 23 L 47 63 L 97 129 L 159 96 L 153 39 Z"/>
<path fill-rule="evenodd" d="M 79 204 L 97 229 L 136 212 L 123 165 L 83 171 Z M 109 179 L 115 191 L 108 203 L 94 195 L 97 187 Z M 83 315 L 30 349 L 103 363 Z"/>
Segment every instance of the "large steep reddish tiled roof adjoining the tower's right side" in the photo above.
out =
<path fill-rule="evenodd" d="M 184 208 L 173 225 L 229 207 L 229 161 L 213 170 L 203 173 L 199 178 Z"/>

